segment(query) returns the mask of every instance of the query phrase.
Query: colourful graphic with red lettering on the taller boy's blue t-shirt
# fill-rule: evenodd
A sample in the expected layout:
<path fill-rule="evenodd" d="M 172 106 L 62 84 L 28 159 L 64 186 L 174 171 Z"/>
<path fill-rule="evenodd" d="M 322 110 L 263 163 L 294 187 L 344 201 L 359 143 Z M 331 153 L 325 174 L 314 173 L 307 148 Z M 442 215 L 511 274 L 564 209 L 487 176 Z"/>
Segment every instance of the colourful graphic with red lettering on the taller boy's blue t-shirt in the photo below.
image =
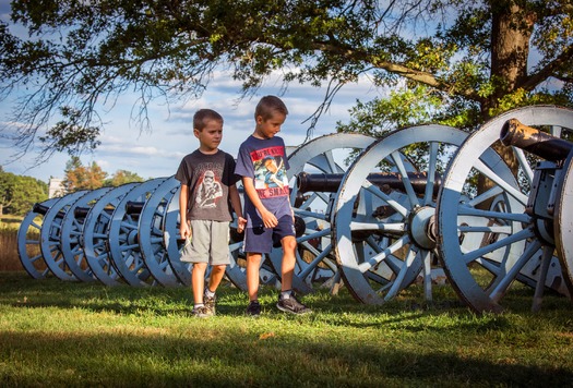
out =
<path fill-rule="evenodd" d="M 254 189 L 260 198 L 289 194 L 284 158 L 283 147 L 268 147 L 251 153 L 254 167 Z"/>

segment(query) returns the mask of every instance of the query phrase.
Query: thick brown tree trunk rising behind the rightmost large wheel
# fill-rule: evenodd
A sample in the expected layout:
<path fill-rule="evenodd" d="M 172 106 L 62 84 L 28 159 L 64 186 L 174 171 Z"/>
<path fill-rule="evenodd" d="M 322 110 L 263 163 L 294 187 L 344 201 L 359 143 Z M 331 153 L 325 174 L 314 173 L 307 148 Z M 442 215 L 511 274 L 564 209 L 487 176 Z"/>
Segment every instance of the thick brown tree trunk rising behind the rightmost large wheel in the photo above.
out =
<path fill-rule="evenodd" d="M 491 80 L 496 85 L 494 93 L 481 107 L 485 120 L 490 119 L 491 109 L 500 104 L 500 99 L 520 88 L 527 76 L 527 58 L 529 56 L 529 39 L 534 27 L 535 14 L 525 10 L 514 0 L 491 0 Z M 517 160 L 511 148 L 499 142 L 493 148 L 516 173 Z M 482 178 L 478 182 L 479 192 L 489 186 Z"/>

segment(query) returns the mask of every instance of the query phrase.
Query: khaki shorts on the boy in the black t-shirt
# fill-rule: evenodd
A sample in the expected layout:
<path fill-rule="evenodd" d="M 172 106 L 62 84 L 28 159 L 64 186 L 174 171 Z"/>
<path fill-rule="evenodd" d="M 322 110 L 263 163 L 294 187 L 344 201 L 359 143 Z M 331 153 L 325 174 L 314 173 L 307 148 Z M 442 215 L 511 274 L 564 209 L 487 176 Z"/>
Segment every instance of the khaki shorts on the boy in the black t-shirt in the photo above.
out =
<path fill-rule="evenodd" d="M 191 242 L 181 251 L 181 262 L 228 265 L 229 222 L 191 220 Z"/>

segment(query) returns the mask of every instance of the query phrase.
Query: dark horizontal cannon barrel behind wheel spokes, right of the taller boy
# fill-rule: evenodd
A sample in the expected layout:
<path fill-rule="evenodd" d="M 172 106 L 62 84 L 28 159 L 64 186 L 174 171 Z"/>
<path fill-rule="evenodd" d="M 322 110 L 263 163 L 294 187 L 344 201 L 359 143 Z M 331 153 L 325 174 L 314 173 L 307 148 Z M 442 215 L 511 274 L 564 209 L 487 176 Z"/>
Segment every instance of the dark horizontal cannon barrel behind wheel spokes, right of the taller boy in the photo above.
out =
<path fill-rule="evenodd" d="M 299 173 L 297 175 L 297 187 L 300 193 L 307 192 L 323 192 L 336 193 L 341 185 L 344 174 L 342 173 Z M 399 173 L 396 172 L 377 172 L 370 173 L 367 177 L 372 184 L 384 189 L 404 190 L 404 181 Z M 426 183 L 428 182 L 428 174 L 426 172 L 408 172 L 408 180 L 410 181 L 414 191 L 418 194 L 426 192 Z M 434 181 L 433 192 L 438 193 L 442 183 L 441 177 L 437 175 Z"/>

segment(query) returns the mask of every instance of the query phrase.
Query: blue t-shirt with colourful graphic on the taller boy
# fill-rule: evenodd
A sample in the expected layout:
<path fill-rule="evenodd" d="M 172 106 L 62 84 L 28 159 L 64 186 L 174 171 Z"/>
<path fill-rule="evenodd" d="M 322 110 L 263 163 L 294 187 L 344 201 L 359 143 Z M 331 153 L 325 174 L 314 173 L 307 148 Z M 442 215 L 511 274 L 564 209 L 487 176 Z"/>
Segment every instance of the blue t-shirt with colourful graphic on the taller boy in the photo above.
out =
<path fill-rule="evenodd" d="M 253 180 L 254 189 L 264 207 L 278 219 L 293 215 L 286 174 L 288 168 L 283 138 L 274 136 L 263 140 L 251 135 L 239 148 L 235 173 Z M 244 214 L 247 228 L 263 225 L 261 215 L 247 195 L 244 195 Z"/>

